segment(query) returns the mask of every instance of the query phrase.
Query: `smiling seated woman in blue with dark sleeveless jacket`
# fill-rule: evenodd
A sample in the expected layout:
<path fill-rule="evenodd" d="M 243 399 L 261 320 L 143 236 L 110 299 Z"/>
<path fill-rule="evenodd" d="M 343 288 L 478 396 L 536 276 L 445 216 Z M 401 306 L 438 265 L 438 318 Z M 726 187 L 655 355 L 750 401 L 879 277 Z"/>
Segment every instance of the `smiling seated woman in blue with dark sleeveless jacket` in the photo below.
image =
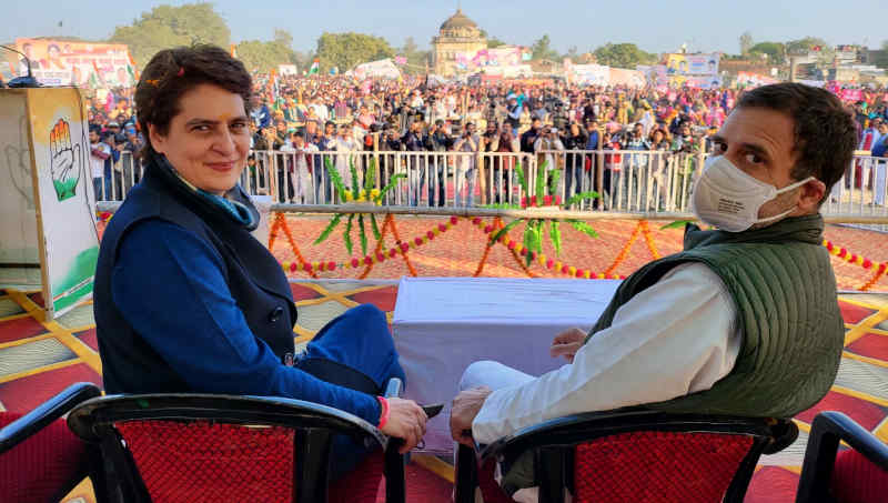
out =
<path fill-rule="evenodd" d="M 212 46 L 163 50 L 142 72 L 144 178 L 108 225 L 95 274 L 105 391 L 305 400 L 384 423 L 406 452 L 426 416 L 412 401 L 374 396 L 404 379 L 381 311 L 354 308 L 294 354 L 290 285 L 250 233 L 259 214 L 238 185 L 251 89 L 243 64 Z M 339 474 L 363 452 L 334 444 Z"/>

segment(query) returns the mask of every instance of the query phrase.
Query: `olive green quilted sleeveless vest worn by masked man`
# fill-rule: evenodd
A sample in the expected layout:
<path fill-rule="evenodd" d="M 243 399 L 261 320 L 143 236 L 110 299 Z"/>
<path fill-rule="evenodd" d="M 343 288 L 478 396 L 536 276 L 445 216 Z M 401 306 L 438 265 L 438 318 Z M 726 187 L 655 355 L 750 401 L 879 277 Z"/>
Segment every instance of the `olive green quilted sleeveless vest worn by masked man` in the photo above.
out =
<path fill-rule="evenodd" d="M 688 225 L 685 251 L 627 278 L 589 336 L 610 326 L 620 305 L 676 265 L 706 264 L 725 283 L 737 310 L 743 343 L 734 369 L 707 391 L 644 406 L 675 413 L 793 416 L 827 393 L 844 346 L 836 278 L 820 244 L 823 231 L 819 214 L 740 233 Z"/>

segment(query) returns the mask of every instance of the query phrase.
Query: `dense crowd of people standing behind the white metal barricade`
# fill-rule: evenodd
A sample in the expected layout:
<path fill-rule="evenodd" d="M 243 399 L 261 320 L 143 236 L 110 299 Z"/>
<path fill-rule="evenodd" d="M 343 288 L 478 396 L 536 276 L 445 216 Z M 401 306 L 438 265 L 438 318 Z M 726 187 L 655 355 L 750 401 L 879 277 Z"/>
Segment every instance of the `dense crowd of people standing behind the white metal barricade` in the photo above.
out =
<path fill-rule="evenodd" d="M 743 94 L 734 89 L 579 87 L 556 80 L 468 85 L 435 84 L 422 77 L 357 81 L 349 77 L 258 76 L 254 82 L 251 149 L 289 154 L 286 162 L 278 164 L 279 172 L 270 174 L 287 181 L 269 190 L 276 191 L 280 201 L 304 203 L 336 200 L 317 152 L 521 152 L 538 155 L 549 170 L 564 170 L 566 195 L 595 185 L 596 177 L 604 187 L 595 187 L 608 190 L 612 178 L 619 175 L 619 168 L 610 161 L 619 157 L 608 155 L 602 162 L 594 155 L 569 152 L 706 152 L 708 137 Z M 859 149 L 886 155 L 888 93 L 870 90 L 861 98 L 847 103 L 859 127 Z M 97 193 L 122 199 L 138 182 L 139 170 L 132 155 L 121 160 L 121 153 L 133 154 L 144 144 L 133 115 L 132 89 L 95 91 L 88 107 L 90 130 L 97 133 L 90 135 Z M 541 153 L 552 151 L 565 153 L 557 159 Z M 351 185 L 347 159 L 352 157 L 339 155 L 334 165 Z M 633 159 L 647 162 L 640 155 Z M 380 162 L 386 161 L 390 168 L 394 163 L 391 158 Z M 268 155 L 251 155 L 250 173 L 258 185 L 266 187 L 266 162 Z M 421 174 L 411 179 L 408 203 L 418 203 L 426 185 L 428 203 L 443 204 L 447 173 L 460 180 L 456 204 L 474 202 L 478 182 L 474 161 L 461 162 L 452 172 L 432 158 L 414 164 Z M 501 202 L 502 191 L 515 187 L 509 169 L 514 164 L 514 159 L 485 161 L 485 173 L 493 171 L 490 202 Z M 387 177 L 391 169 L 383 170 L 383 183 Z"/>

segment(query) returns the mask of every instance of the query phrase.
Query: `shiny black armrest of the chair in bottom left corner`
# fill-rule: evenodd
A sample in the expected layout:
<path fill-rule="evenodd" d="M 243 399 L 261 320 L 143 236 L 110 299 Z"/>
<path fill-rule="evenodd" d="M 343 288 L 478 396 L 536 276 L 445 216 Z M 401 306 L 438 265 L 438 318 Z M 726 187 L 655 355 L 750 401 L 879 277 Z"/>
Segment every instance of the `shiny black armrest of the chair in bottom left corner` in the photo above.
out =
<path fill-rule="evenodd" d="M 61 393 L 0 430 L 0 454 L 11 450 L 48 426 L 81 402 L 101 394 L 101 390 L 92 383 L 79 382 L 71 384 Z"/>

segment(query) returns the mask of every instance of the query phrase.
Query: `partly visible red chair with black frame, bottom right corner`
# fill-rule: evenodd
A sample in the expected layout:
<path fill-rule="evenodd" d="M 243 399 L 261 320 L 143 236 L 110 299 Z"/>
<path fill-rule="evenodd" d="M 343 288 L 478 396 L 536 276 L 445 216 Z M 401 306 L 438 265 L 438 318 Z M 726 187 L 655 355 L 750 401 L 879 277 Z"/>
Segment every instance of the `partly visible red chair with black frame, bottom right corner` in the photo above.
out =
<path fill-rule="evenodd" d="M 839 442 L 850 449 L 839 452 Z M 888 501 L 888 445 L 847 415 L 826 411 L 811 422 L 796 503 Z"/>

